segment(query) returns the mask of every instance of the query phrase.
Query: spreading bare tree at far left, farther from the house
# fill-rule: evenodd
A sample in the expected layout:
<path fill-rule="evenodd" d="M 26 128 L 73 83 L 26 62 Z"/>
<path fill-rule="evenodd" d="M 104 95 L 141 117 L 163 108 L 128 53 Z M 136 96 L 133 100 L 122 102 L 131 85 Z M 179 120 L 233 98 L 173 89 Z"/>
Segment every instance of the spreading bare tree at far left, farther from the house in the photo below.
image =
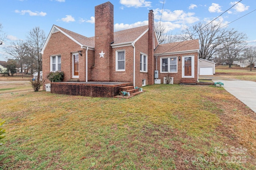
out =
<path fill-rule="evenodd" d="M 20 70 L 23 72 L 23 58 L 26 55 L 26 47 L 22 40 L 13 41 L 4 51 L 20 63 Z"/>

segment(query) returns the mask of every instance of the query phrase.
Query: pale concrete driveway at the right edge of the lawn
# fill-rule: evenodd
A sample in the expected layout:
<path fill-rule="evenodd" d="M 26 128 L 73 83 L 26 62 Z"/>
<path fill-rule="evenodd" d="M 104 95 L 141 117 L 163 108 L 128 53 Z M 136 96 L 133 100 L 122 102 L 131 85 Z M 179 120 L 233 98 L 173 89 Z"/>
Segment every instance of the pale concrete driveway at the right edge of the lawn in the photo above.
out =
<path fill-rule="evenodd" d="M 256 113 L 256 82 L 244 80 L 213 80 L 224 83 L 224 89 Z"/>

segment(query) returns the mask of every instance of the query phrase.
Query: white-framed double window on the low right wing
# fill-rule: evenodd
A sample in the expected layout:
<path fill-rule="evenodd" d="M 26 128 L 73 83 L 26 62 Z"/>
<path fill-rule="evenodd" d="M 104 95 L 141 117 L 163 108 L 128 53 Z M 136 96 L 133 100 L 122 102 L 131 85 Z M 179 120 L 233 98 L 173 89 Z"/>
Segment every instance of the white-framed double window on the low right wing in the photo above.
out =
<path fill-rule="evenodd" d="M 161 72 L 177 72 L 177 57 L 161 58 Z"/>

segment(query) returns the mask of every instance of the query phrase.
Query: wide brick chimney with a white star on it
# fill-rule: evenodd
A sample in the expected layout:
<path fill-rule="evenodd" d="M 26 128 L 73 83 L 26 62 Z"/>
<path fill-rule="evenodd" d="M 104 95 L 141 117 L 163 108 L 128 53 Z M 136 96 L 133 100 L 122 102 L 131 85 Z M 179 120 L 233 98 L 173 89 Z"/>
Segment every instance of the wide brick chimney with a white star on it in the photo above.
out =
<path fill-rule="evenodd" d="M 94 81 L 110 81 L 112 70 L 112 47 L 114 41 L 114 6 L 110 2 L 95 6 L 95 67 Z M 99 53 L 105 53 L 100 55 Z M 104 56 L 104 57 L 103 57 Z"/>

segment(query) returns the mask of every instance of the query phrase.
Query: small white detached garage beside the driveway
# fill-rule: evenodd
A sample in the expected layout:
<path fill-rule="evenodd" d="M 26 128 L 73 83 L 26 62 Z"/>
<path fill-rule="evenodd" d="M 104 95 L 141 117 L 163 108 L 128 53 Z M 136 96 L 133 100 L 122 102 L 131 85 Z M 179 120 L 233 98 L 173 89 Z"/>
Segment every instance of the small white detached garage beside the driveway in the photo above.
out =
<path fill-rule="evenodd" d="M 215 64 L 212 61 L 199 59 L 198 60 L 198 68 L 199 75 L 213 75 L 215 74 Z"/>

